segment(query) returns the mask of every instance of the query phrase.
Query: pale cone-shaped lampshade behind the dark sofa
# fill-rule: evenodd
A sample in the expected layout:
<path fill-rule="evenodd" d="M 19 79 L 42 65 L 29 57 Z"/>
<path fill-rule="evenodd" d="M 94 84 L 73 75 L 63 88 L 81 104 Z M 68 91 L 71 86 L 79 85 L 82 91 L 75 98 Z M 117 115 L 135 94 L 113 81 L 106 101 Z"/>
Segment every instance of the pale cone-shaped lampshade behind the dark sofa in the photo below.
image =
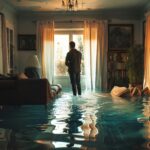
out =
<path fill-rule="evenodd" d="M 27 64 L 28 64 L 28 65 L 27 65 L 28 67 L 35 67 L 35 68 L 40 68 L 40 67 L 41 67 L 37 55 L 31 56 L 31 57 L 29 58 Z"/>

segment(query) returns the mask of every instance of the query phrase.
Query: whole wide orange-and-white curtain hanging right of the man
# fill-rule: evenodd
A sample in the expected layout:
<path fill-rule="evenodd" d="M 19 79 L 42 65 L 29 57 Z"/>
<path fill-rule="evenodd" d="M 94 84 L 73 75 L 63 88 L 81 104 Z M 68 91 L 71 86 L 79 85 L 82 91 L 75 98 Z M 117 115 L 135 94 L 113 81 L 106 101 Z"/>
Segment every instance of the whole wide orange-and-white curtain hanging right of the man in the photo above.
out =
<path fill-rule="evenodd" d="M 86 88 L 107 89 L 107 22 L 84 22 Z"/>

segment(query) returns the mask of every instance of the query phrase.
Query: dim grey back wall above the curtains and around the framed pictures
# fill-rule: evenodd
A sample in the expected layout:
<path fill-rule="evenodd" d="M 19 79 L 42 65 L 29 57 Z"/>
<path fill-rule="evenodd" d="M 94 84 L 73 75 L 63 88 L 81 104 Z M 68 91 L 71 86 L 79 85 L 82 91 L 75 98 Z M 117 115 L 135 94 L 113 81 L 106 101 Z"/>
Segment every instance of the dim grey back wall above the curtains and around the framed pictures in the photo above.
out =
<path fill-rule="evenodd" d="M 119 15 L 118 15 L 119 13 Z M 95 13 L 95 14 L 75 14 L 67 12 L 62 14 L 52 14 L 52 13 L 26 13 L 20 14 L 18 18 L 18 34 L 35 34 L 36 33 L 36 21 L 37 20 L 56 20 L 56 21 L 70 21 L 70 20 L 84 20 L 84 19 L 107 19 L 111 24 L 134 24 L 134 43 L 143 42 L 143 21 L 142 19 L 138 18 L 136 13 L 126 13 L 125 12 L 118 12 L 114 13 L 107 13 L 102 16 L 102 14 Z M 121 16 L 123 15 L 123 17 Z M 18 71 L 23 71 L 27 59 L 30 55 L 35 54 L 36 51 L 17 51 L 18 54 Z"/>

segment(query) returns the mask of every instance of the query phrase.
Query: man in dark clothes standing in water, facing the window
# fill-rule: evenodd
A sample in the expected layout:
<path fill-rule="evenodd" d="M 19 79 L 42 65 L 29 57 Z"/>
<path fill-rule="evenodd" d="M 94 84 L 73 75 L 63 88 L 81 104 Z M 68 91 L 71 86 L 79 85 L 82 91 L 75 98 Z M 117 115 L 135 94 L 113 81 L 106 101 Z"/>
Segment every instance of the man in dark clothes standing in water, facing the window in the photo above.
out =
<path fill-rule="evenodd" d="M 70 51 L 66 55 L 65 64 L 68 66 L 73 95 L 76 96 L 77 91 L 78 95 L 81 95 L 80 72 L 82 54 L 75 49 L 75 42 L 71 41 L 69 46 Z"/>

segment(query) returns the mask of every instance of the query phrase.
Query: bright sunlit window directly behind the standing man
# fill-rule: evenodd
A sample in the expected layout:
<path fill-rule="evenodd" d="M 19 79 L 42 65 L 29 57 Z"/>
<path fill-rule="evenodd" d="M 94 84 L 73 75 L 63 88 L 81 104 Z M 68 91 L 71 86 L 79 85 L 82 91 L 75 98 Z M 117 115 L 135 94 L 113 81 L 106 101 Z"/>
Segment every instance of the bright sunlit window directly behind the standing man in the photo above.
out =
<path fill-rule="evenodd" d="M 65 57 L 69 51 L 69 41 L 76 43 L 76 49 L 82 53 L 81 74 L 84 75 L 84 50 L 82 31 L 56 31 L 54 36 L 54 75 L 67 76 Z"/>

